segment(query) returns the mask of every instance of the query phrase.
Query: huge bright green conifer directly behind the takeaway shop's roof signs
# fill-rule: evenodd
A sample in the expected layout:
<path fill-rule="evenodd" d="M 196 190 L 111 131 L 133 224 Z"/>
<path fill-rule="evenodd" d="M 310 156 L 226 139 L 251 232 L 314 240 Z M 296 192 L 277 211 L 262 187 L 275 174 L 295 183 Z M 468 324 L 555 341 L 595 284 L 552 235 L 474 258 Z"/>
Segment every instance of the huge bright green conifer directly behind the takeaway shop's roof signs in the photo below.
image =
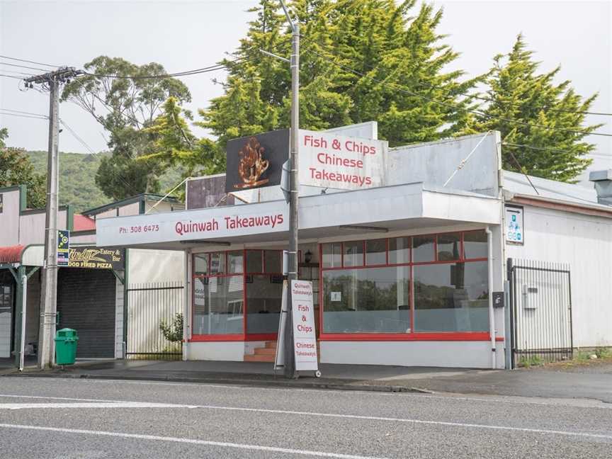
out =
<path fill-rule="evenodd" d="M 436 32 L 442 10 L 427 4 L 416 9 L 415 4 L 291 2 L 302 24 L 300 128 L 324 130 L 378 120 L 379 135 L 390 145 L 469 132 L 472 99 L 462 94 L 479 79 L 460 81 L 462 71 L 445 72 L 458 53 Z M 288 127 L 290 67 L 260 50 L 287 56 L 290 30 L 276 0 L 260 0 L 251 11 L 256 18 L 235 59 L 222 61 L 228 68 L 225 93 L 199 111 L 203 119 L 196 125 L 215 141 L 192 142 L 186 148 L 179 131 L 166 130 L 176 148 L 157 149 L 157 159 L 169 164 L 171 157 L 181 157 L 209 173 L 220 172 L 225 169 L 227 140 Z M 159 128 L 170 127 L 167 121 Z"/>

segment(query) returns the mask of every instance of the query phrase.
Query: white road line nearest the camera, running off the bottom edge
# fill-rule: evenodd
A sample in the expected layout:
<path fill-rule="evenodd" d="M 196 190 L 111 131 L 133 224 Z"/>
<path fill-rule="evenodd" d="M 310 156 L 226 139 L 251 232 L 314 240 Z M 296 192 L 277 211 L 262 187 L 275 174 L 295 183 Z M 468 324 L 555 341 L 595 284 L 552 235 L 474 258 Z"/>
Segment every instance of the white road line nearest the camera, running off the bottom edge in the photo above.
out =
<path fill-rule="evenodd" d="M 137 440 L 154 440 L 154 441 L 169 441 L 173 443 L 190 443 L 192 445 L 220 446 L 221 448 L 237 448 L 237 449 L 251 450 L 251 451 L 267 451 L 267 452 L 272 452 L 272 453 L 310 455 L 310 456 L 314 456 L 318 458 L 385 459 L 385 458 L 375 458 L 373 456 L 362 456 L 362 455 L 340 454 L 340 453 L 325 453 L 324 451 L 277 448 L 276 446 L 248 445 L 244 443 L 227 443 L 225 441 L 209 441 L 209 440 L 196 440 L 193 438 L 177 438 L 177 437 L 165 437 L 165 436 L 157 436 L 157 435 L 142 435 L 140 433 L 90 431 L 90 430 L 83 430 L 83 429 L 62 429 L 58 427 L 25 426 L 22 424 L 0 424 L 0 428 L 3 428 L 3 427 L 5 429 L 24 429 L 24 430 L 52 431 L 52 432 L 62 432 L 62 433 L 81 433 L 84 435 L 110 436 L 110 437 L 119 437 L 119 438 L 135 438 Z"/>

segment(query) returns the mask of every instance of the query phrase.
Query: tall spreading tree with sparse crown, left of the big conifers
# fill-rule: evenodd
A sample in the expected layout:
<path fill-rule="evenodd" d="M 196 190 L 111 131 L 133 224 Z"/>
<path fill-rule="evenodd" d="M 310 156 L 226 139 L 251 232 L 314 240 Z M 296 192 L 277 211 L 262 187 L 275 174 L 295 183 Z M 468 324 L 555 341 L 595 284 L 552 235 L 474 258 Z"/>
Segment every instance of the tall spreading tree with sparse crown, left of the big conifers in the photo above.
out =
<path fill-rule="evenodd" d="M 189 90 L 178 79 L 154 77 L 166 74 L 154 62 L 137 66 L 120 57 L 99 56 L 85 69 L 84 77 L 64 86 L 62 101 L 77 103 L 110 133 L 112 155 L 102 159 L 96 184 L 113 199 L 156 193 L 160 164 L 138 160 L 152 152 L 156 140 L 147 128 L 169 97 L 179 103 L 191 101 Z"/>

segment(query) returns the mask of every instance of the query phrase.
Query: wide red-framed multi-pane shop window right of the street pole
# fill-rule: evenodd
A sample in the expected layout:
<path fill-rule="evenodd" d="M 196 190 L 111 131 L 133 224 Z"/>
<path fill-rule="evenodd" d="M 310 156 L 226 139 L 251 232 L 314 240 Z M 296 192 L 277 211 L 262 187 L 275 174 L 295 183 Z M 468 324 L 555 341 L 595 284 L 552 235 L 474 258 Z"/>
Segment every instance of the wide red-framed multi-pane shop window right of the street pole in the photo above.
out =
<path fill-rule="evenodd" d="M 334 242 L 321 252 L 324 334 L 489 329 L 482 230 Z"/>

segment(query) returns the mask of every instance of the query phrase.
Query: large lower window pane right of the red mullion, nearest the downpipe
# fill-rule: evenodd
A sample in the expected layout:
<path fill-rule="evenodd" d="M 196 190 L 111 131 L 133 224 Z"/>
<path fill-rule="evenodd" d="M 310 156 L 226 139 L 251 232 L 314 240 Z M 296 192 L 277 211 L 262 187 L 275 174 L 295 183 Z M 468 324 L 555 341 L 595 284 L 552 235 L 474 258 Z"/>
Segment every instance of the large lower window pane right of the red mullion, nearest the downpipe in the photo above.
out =
<path fill-rule="evenodd" d="M 415 331 L 488 331 L 487 261 L 414 266 Z"/>

